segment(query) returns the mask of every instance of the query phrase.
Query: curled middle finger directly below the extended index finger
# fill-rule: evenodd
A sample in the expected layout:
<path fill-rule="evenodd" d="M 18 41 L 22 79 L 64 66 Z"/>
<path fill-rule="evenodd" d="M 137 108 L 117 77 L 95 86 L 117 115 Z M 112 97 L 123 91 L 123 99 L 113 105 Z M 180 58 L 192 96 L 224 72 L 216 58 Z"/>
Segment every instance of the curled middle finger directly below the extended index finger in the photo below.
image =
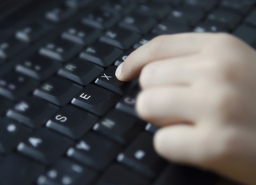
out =
<path fill-rule="evenodd" d="M 204 77 L 204 65 L 198 56 L 167 58 L 147 64 L 140 73 L 140 86 L 188 86 Z"/>

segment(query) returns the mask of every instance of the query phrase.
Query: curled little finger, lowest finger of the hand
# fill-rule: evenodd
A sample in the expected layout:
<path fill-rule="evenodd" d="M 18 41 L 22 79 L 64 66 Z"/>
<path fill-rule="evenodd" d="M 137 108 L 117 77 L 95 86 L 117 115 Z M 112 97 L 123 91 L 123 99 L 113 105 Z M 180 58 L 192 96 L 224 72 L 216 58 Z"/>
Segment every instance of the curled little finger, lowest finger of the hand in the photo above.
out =
<path fill-rule="evenodd" d="M 202 161 L 201 143 L 198 129 L 185 124 L 161 128 L 154 136 L 156 152 L 172 162 L 198 165 Z"/>

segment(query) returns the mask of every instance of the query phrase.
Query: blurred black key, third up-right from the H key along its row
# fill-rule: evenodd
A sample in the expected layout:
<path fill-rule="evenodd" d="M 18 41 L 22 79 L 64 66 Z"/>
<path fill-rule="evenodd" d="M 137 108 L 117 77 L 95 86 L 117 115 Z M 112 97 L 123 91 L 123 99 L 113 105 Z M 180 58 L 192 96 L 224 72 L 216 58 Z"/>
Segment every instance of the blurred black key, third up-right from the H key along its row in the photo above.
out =
<path fill-rule="evenodd" d="M 107 30 L 105 34 L 100 37 L 100 41 L 121 49 L 128 49 L 135 41 L 139 40 L 139 38 L 140 35 L 137 32 L 116 27 Z"/>

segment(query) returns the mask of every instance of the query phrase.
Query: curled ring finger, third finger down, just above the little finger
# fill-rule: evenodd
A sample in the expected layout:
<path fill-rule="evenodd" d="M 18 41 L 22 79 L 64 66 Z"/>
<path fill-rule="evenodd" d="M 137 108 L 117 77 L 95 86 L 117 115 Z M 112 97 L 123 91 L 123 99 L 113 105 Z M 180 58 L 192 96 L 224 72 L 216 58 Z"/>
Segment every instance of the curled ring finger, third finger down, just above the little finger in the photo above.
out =
<path fill-rule="evenodd" d="M 157 87 L 142 90 L 137 97 L 139 116 L 158 126 L 194 123 L 207 111 L 200 91 L 191 87 Z"/>

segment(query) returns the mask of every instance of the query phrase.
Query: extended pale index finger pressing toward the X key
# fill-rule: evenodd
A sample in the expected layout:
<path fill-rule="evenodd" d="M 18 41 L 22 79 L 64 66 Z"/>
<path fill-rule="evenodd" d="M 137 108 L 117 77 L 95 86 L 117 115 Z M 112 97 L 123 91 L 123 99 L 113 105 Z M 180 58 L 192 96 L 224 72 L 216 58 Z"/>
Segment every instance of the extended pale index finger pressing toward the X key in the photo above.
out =
<path fill-rule="evenodd" d="M 201 51 L 212 39 L 212 33 L 182 33 L 159 36 L 132 52 L 118 66 L 116 76 L 121 81 L 129 81 L 139 77 L 143 66 L 151 61 L 169 57 L 193 55 Z"/>

